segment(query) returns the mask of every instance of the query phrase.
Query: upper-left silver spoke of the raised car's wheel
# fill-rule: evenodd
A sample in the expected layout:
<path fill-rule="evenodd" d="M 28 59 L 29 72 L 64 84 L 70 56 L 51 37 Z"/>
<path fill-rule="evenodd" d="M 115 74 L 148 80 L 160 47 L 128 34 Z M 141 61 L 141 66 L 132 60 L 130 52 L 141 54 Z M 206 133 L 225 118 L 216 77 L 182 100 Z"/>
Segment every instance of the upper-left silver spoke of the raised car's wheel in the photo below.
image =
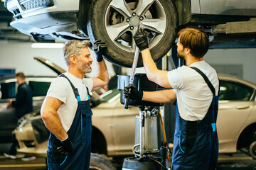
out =
<path fill-rule="evenodd" d="M 121 13 L 123 16 L 131 17 L 132 11 L 130 10 L 128 4 L 124 0 L 113 0 L 110 6 Z"/>

